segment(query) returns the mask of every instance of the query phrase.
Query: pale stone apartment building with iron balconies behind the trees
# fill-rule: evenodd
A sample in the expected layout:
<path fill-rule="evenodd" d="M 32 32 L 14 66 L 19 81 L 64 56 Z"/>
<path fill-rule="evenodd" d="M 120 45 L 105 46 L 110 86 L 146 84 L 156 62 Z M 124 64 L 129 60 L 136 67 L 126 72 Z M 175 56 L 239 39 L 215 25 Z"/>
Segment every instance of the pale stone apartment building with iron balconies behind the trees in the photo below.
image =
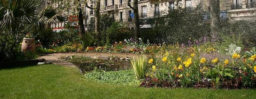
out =
<path fill-rule="evenodd" d="M 101 0 L 100 13 L 108 13 L 117 21 L 132 23 L 131 13 L 133 10 L 127 6 L 130 2 L 133 5 L 133 0 Z M 50 4 L 51 0 L 46 0 L 46 5 Z M 152 4 L 148 0 L 138 1 L 138 12 L 141 21 L 148 21 L 148 19 L 161 16 L 161 12 L 168 12 L 176 8 L 177 0 L 166 0 L 159 4 Z M 196 7 L 201 4 L 202 9 L 209 10 L 210 0 L 181 0 L 178 6 L 182 7 Z M 58 6 L 58 4 L 55 4 Z M 88 3 L 88 6 L 93 7 L 94 4 Z M 86 8 L 83 5 L 84 26 L 94 19 L 94 10 Z M 220 0 L 220 17 L 230 18 L 234 20 L 256 21 L 256 0 Z M 70 9 L 67 14 L 73 15 L 75 9 Z M 74 23 L 75 24 L 75 23 Z M 63 27 L 64 24 L 52 25 L 54 28 Z"/>

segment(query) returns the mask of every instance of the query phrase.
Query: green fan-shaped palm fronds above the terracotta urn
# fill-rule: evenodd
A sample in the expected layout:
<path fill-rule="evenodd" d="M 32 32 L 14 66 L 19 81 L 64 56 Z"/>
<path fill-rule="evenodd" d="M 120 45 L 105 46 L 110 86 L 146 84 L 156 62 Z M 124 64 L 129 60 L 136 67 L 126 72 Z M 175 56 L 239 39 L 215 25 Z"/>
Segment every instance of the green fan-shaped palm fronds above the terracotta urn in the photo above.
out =
<path fill-rule="evenodd" d="M 67 20 L 63 11 L 53 5 L 41 11 L 40 7 L 41 0 L 0 0 L 0 36 L 14 36 L 19 43 L 27 33 Z"/>

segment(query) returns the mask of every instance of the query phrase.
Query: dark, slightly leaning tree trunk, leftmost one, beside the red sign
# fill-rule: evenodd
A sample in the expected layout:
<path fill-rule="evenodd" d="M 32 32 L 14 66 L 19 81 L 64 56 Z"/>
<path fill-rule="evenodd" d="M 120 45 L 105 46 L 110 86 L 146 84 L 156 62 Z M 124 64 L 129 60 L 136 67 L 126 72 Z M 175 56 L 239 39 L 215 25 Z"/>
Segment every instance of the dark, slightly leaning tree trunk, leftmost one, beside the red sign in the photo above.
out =
<path fill-rule="evenodd" d="M 79 8 L 78 8 L 78 25 L 79 25 L 79 36 L 82 37 L 83 34 L 85 34 L 84 30 L 84 20 L 83 20 L 83 12 L 81 9 L 81 3 L 79 3 Z"/>

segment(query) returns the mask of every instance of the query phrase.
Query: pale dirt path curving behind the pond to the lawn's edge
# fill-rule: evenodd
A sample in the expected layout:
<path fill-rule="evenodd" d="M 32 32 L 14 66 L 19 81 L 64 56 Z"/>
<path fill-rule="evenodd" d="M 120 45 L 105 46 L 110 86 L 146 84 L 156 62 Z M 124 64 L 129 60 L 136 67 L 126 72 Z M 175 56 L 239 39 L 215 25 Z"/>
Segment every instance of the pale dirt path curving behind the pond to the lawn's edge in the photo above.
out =
<path fill-rule="evenodd" d="M 100 58 L 107 58 L 109 56 L 115 56 L 115 57 L 129 57 L 132 58 L 133 56 L 136 58 L 138 55 L 131 54 L 131 53 L 94 53 L 94 52 L 85 52 L 85 53 L 54 53 L 54 54 L 48 54 L 48 55 L 42 55 L 38 58 L 44 58 L 46 61 L 51 61 L 53 64 L 62 65 L 62 66 L 71 66 L 76 67 L 74 64 L 70 62 L 66 62 L 61 60 L 61 57 L 65 56 L 86 56 L 86 57 L 100 57 Z"/>

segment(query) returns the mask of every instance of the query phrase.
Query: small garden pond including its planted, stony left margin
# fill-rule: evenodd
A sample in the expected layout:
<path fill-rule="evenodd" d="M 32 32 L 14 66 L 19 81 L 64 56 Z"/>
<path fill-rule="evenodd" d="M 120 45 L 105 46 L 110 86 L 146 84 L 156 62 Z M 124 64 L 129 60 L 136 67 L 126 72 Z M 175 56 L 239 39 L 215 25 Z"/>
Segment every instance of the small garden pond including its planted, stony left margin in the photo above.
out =
<path fill-rule="evenodd" d="M 120 71 L 132 69 L 132 65 L 127 60 L 119 58 L 98 58 L 98 57 L 85 57 L 85 56 L 66 56 L 61 58 L 64 61 L 75 64 L 84 74 L 87 71 L 100 70 L 100 71 Z"/>

